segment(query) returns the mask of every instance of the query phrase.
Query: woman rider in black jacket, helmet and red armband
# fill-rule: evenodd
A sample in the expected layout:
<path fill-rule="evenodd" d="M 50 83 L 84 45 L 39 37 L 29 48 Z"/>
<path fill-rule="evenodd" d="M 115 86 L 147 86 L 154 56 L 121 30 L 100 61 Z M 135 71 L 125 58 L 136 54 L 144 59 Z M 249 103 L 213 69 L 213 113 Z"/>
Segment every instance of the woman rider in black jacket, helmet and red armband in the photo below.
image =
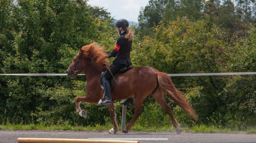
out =
<path fill-rule="evenodd" d="M 128 29 L 129 23 L 126 19 L 119 19 L 116 22 L 116 29 L 117 32 L 120 34 L 120 37 L 117 39 L 116 45 L 114 47 L 114 50 L 112 52 L 107 52 L 109 54 L 109 57 L 116 57 L 113 61 L 113 63 L 110 65 L 110 71 L 106 69 L 102 75 L 102 83 L 105 90 L 106 100 L 102 103 L 99 103 L 99 105 L 111 105 L 112 104 L 112 98 L 110 96 L 110 85 L 109 80 L 117 74 L 117 72 L 123 68 L 126 64 L 128 66 L 132 65 L 131 59 L 130 59 L 130 52 L 132 48 L 132 38 L 133 38 L 133 32 Z M 109 58 L 108 57 L 108 58 Z M 110 73 L 111 72 L 111 73 Z M 133 99 L 129 98 L 126 99 L 123 104 L 133 103 Z"/>

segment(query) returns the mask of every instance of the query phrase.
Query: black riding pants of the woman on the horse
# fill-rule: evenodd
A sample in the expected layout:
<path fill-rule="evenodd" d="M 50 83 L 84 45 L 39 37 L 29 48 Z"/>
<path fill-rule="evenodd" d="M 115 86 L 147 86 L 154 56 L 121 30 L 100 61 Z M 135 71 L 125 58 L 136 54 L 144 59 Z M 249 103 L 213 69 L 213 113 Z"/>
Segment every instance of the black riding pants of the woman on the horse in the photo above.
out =
<path fill-rule="evenodd" d="M 112 75 L 114 76 L 121 68 L 123 68 L 125 66 L 125 64 L 117 64 L 117 63 L 113 63 L 111 65 L 109 65 L 110 67 L 110 71 L 112 73 Z M 113 76 L 111 75 L 110 71 L 107 69 L 103 75 L 102 75 L 102 79 L 105 78 L 108 81 L 113 78 Z M 102 80 L 101 79 L 101 80 Z"/>

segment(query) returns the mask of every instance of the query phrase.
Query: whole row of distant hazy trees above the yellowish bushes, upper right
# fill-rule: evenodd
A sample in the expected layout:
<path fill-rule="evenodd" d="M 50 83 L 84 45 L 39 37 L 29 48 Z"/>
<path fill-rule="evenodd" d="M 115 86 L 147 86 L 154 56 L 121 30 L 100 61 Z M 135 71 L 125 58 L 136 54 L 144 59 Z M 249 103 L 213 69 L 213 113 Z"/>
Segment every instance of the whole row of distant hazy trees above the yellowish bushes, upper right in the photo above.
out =
<path fill-rule="evenodd" d="M 226 36 L 231 37 L 234 33 L 248 29 L 246 24 L 256 22 L 255 0 L 150 0 L 140 11 L 137 31 L 142 31 L 140 37 L 154 37 L 153 27 L 160 21 L 166 23 L 176 20 L 177 17 L 186 16 L 189 21 L 194 22 L 201 20 L 203 13 L 209 12 L 212 8 L 218 9 L 214 12 L 219 19 L 215 24 L 228 33 Z"/>

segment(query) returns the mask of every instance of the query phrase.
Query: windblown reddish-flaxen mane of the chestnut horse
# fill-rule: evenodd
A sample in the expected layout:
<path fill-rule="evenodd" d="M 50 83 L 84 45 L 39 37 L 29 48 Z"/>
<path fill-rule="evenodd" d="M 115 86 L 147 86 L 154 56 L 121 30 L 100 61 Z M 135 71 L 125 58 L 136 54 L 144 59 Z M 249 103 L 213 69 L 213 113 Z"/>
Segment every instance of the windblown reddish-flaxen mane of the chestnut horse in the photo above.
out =
<path fill-rule="evenodd" d="M 78 55 L 91 59 L 94 67 L 96 67 L 98 71 L 103 71 L 105 69 L 109 69 L 109 55 L 106 55 L 103 51 L 104 47 L 99 47 L 95 43 L 92 43 L 90 45 L 83 46 Z"/>

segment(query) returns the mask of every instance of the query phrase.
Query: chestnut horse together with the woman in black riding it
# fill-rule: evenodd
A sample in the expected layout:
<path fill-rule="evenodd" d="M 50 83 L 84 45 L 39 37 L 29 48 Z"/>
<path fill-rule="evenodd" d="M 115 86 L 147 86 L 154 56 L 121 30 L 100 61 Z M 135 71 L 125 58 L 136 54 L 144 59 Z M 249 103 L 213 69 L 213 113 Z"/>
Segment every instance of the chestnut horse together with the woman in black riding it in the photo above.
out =
<path fill-rule="evenodd" d="M 164 73 L 159 72 L 152 67 L 135 67 L 129 71 L 118 74 L 115 77 L 116 83 L 111 90 L 112 97 L 110 96 L 109 80 L 112 75 L 115 75 L 125 64 L 131 65 L 130 51 L 132 46 L 132 32 L 128 29 L 128 21 L 120 19 L 116 23 L 117 31 L 120 37 L 117 40 L 113 52 L 109 55 L 103 53 L 104 48 L 98 47 L 95 43 L 83 46 L 78 55 L 75 56 L 72 63 L 69 65 L 66 73 L 71 78 L 75 78 L 81 72 L 86 75 L 86 96 L 78 96 L 75 100 L 76 113 L 86 118 L 85 110 L 80 107 L 81 102 L 97 104 L 101 100 L 103 93 L 101 91 L 101 80 L 103 82 L 106 94 L 106 101 L 103 105 L 108 105 L 110 117 L 113 121 L 114 127 L 109 130 L 111 134 L 118 132 L 118 124 L 116 121 L 116 113 L 114 108 L 114 101 L 123 99 L 135 99 L 135 110 L 132 120 L 122 130 L 123 133 L 128 133 L 132 126 L 142 114 L 142 104 L 148 95 L 156 100 L 157 103 L 165 110 L 170 116 L 173 126 L 177 134 L 181 133 L 180 124 L 173 116 L 170 106 L 166 103 L 164 95 L 169 96 L 178 106 L 185 110 L 194 119 L 197 115 L 193 108 L 190 106 L 187 98 L 178 91 L 170 77 Z M 116 57 L 113 64 L 109 65 L 108 57 Z M 103 78 L 101 78 L 101 73 Z M 150 78 L 148 78 L 150 77 Z M 117 85 L 117 83 L 119 83 Z M 133 101 L 133 100 L 132 100 Z"/>

